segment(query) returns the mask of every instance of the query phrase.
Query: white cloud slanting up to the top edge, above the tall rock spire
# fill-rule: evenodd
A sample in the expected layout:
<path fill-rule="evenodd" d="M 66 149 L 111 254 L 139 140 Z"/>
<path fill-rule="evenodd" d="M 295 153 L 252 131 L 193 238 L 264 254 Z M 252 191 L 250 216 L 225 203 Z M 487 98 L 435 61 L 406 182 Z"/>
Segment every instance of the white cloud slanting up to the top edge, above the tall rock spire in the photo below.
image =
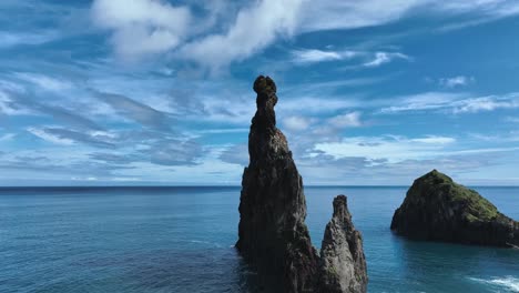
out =
<path fill-rule="evenodd" d="M 181 54 L 213 70 L 243 60 L 278 37 L 293 36 L 302 3 L 302 0 L 254 1 L 238 12 L 226 32 L 194 40 L 181 50 Z"/>

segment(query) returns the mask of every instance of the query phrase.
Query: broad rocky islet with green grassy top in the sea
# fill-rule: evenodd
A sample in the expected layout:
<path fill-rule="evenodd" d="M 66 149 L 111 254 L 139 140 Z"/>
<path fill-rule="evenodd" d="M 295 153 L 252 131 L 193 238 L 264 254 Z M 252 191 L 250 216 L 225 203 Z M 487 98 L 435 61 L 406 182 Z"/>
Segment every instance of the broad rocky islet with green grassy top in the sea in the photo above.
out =
<path fill-rule="evenodd" d="M 519 222 L 474 190 L 434 170 L 415 180 L 391 230 L 419 240 L 517 247 Z"/>

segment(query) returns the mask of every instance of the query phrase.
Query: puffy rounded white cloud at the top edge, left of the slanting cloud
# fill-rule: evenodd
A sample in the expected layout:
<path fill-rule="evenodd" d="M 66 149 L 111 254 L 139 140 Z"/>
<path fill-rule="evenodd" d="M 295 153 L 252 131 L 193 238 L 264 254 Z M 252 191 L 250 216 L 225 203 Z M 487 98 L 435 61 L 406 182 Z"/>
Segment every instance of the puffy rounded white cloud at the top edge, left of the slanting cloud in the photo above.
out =
<path fill-rule="evenodd" d="M 189 33 L 191 12 L 161 0 L 95 0 L 92 18 L 113 31 L 118 55 L 134 60 L 177 47 Z"/>

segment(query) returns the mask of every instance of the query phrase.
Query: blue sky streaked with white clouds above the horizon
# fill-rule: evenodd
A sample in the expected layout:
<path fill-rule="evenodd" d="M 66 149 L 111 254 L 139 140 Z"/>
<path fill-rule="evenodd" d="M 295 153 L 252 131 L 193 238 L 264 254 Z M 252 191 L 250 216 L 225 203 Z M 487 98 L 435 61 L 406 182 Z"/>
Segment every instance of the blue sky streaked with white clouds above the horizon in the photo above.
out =
<path fill-rule="evenodd" d="M 252 83 L 306 184 L 517 185 L 515 0 L 0 2 L 0 184 L 233 184 Z"/>

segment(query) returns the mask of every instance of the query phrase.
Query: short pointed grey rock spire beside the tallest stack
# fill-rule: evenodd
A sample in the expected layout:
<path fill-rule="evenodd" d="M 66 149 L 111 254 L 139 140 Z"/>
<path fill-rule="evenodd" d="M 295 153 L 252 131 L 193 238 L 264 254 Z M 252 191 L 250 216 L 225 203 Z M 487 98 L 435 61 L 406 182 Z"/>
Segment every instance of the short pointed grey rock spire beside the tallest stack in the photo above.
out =
<path fill-rule="evenodd" d="M 367 267 L 363 239 L 355 230 L 347 198 L 334 199 L 334 215 L 320 246 L 322 292 L 366 292 Z"/>

